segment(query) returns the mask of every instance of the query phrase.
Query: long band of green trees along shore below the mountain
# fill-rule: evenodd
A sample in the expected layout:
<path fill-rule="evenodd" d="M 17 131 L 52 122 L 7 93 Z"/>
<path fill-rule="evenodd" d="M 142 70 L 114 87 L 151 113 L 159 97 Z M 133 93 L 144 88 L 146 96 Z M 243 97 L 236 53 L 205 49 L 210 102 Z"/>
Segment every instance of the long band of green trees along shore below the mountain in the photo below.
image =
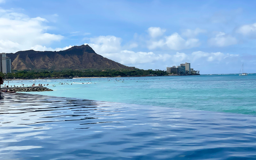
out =
<path fill-rule="evenodd" d="M 3 74 L 0 72 L 0 76 L 4 79 L 37 79 L 37 78 L 57 78 L 57 77 L 115 77 L 115 76 L 165 76 L 166 71 L 163 70 L 63 70 L 63 71 L 12 71 L 12 73 Z"/>

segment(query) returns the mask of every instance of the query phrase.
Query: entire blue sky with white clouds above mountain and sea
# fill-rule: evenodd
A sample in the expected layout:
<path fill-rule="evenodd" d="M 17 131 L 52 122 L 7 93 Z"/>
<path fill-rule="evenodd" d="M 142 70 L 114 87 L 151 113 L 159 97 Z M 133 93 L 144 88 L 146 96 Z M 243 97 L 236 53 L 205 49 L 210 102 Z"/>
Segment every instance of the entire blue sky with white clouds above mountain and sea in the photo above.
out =
<path fill-rule="evenodd" d="M 126 66 L 256 73 L 255 1 L 0 0 L 0 52 L 89 44 Z"/>

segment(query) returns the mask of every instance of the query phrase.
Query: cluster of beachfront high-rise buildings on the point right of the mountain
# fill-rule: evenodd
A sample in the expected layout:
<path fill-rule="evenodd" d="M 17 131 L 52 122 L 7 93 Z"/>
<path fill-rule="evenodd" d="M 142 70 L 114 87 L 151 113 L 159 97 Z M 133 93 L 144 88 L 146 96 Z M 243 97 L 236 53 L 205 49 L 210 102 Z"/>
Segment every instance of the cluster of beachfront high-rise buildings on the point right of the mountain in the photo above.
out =
<path fill-rule="evenodd" d="M 180 66 L 172 66 L 166 67 L 166 72 L 170 74 L 178 74 L 178 75 L 190 75 L 191 68 L 190 63 L 180 64 Z"/>

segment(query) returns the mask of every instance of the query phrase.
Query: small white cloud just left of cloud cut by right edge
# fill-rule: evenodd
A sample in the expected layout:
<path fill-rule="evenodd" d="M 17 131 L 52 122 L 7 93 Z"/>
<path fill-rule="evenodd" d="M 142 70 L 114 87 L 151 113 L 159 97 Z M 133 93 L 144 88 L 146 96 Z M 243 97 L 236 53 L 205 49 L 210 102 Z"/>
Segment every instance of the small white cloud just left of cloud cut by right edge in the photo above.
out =
<path fill-rule="evenodd" d="M 211 46 L 225 47 L 237 44 L 237 40 L 235 37 L 227 35 L 224 32 L 219 32 L 214 38 L 210 38 L 208 43 Z"/>

